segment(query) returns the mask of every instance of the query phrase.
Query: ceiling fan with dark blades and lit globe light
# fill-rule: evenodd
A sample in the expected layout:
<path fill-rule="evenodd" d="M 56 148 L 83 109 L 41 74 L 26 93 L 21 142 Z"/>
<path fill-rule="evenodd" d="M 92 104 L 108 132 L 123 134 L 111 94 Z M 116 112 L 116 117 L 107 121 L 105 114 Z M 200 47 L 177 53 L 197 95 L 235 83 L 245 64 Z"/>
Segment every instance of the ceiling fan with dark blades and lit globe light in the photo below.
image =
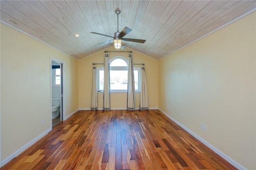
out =
<path fill-rule="evenodd" d="M 100 33 L 97 33 L 97 32 L 90 32 L 90 33 L 113 38 L 113 40 L 102 42 L 102 43 L 108 43 L 110 45 L 114 45 L 115 49 L 117 49 L 117 50 L 120 49 L 120 48 L 124 49 L 125 45 L 127 44 L 126 41 L 128 41 L 128 42 L 137 42 L 137 43 L 144 43 L 144 42 L 146 42 L 146 40 L 132 39 L 132 38 L 123 38 L 126 34 L 131 32 L 132 29 L 130 29 L 128 27 L 125 27 L 121 32 L 119 32 L 118 31 L 118 16 L 121 13 L 121 11 L 120 10 L 115 10 L 115 13 L 117 15 L 117 31 L 114 33 L 114 37 L 108 36 L 108 35 L 105 35 L 105 34 L 100 34 Z M 99 44 L 102 44 L 102 43 L 99 43 Z"/>

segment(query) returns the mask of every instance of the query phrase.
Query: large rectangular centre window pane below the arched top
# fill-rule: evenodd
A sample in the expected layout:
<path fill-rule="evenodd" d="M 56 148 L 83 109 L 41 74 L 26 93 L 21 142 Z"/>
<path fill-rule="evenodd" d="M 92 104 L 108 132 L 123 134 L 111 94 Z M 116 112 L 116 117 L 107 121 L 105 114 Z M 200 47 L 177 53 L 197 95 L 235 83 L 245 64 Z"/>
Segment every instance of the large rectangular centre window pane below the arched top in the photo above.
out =
<path fill-rule="evenodd" d="M 110 70 L 110 89 L 127 90 L 127 70 Z"/>

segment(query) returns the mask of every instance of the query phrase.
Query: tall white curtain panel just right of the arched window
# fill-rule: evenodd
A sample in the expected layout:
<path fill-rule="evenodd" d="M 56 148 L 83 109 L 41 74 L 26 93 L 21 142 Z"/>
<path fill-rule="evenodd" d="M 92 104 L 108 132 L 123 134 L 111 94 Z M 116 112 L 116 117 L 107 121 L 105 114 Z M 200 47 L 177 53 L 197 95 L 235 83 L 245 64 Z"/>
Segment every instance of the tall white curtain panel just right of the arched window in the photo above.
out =
<path fill-rule="evenodd" d="M 128 59 L 127 110 L 135 111 L 134 69 L 131 53 Z"/>

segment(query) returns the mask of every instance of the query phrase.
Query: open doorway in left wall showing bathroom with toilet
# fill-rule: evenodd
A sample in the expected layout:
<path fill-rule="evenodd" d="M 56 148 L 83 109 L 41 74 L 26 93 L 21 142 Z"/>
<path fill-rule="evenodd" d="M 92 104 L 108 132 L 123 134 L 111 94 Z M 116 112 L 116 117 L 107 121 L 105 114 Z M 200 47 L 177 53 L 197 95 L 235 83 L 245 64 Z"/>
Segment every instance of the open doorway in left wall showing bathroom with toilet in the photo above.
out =
<path fill-rule="evenodd" d="M 64 63 L 51 59 L 51 119 L 52 127 L 63 120 Z"/>

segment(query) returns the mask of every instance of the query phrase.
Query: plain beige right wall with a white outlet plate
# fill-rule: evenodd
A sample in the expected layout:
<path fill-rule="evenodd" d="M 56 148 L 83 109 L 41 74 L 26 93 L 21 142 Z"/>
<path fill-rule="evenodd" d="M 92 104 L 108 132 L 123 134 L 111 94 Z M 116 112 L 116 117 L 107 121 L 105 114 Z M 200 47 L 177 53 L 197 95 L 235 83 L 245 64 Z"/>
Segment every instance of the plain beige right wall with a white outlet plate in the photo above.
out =
<path fill-rule="evenodd" d="M 159 108 L 251 170 L 256 169 L 255 47 L 256 12 L 158 63 Z"/>

